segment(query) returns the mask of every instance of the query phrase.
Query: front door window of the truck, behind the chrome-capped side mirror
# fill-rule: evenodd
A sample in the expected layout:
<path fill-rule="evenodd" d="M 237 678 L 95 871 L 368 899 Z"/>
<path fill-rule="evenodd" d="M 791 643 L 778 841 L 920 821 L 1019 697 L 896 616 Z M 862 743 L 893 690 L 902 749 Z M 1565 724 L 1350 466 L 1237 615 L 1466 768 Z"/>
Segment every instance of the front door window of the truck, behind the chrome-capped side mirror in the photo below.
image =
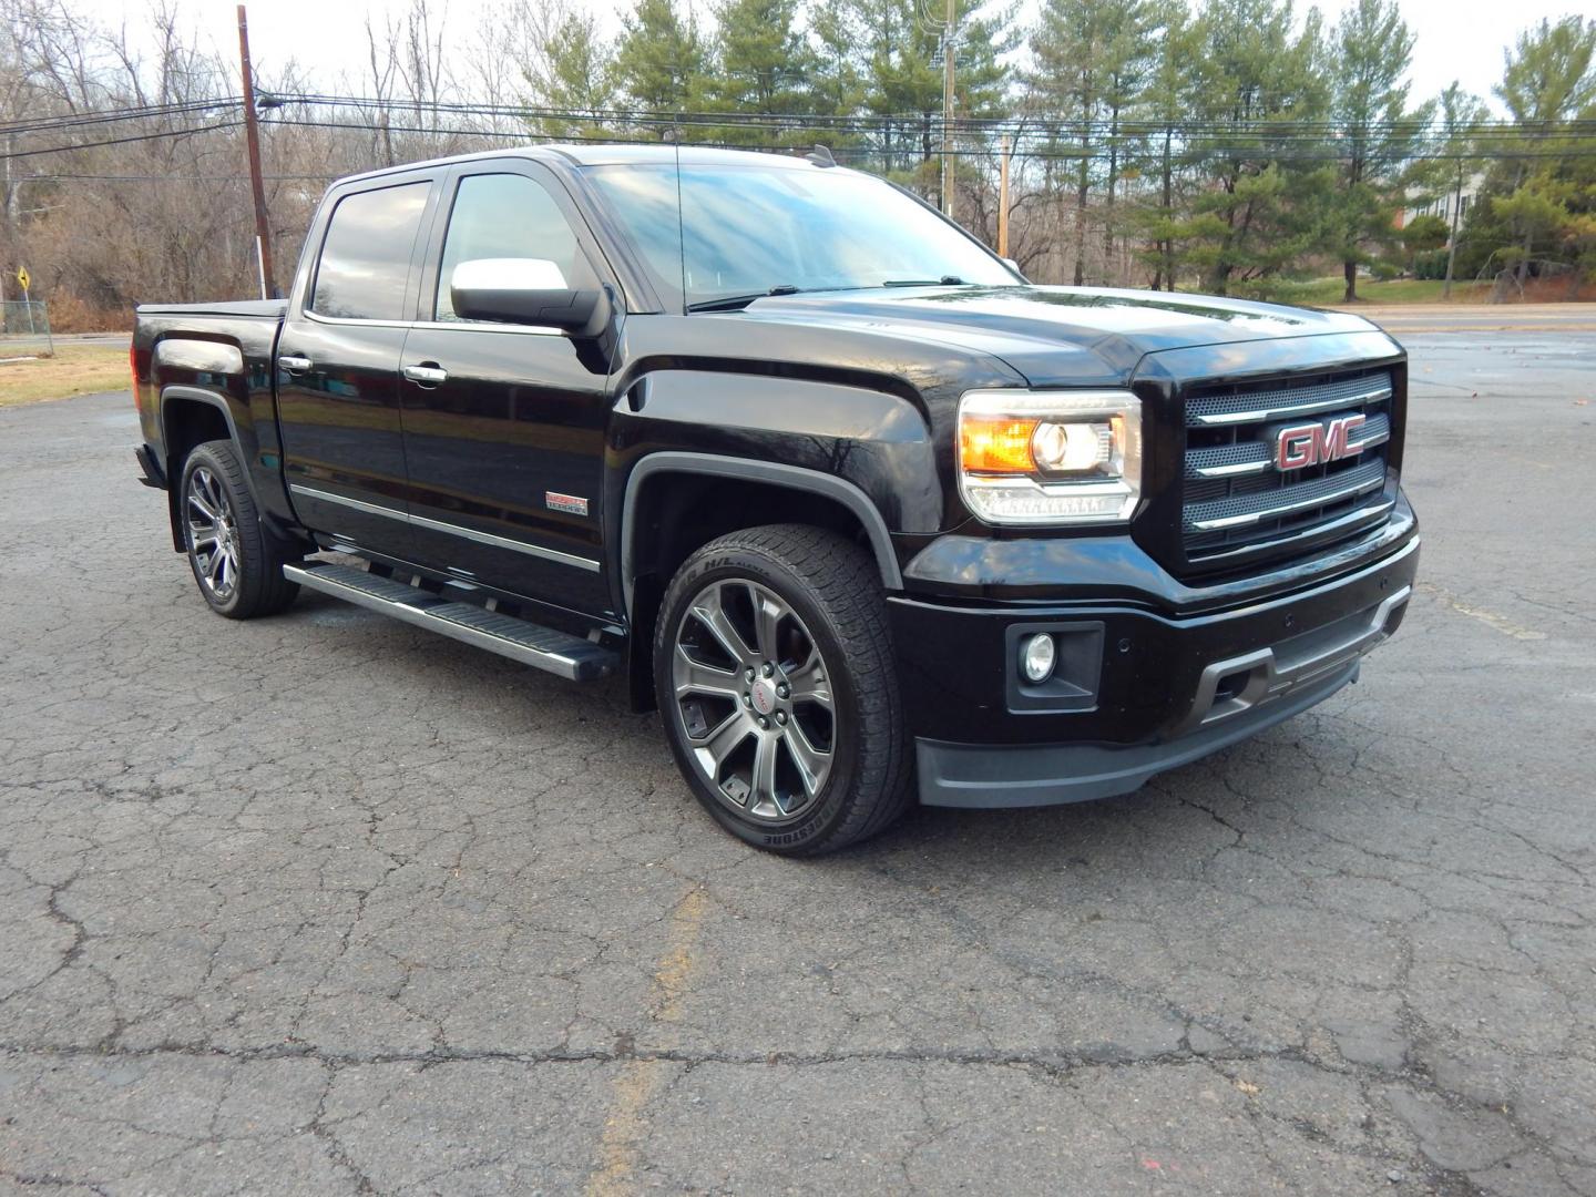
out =
<path fill-rule="evenodd" d="M 458 321 L 448 281 L 461 262 L 535 257 L 552 262 L 576 284 L 581 249 L 554 196 L 523 174 L 471 174 L 460 180 L 444 235 L 434 319 Z"/>

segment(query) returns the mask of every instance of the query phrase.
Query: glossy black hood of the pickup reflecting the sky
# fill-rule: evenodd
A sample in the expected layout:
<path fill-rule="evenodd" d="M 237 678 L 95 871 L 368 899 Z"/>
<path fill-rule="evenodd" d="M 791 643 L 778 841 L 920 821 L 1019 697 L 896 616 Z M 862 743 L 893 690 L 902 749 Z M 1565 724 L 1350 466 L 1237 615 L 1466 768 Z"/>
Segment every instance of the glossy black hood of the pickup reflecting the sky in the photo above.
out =
<path fill-rule="evenodd" d="M 1202 345 L 1369 332 L 1337 311 L 1080 287 L 913 287 L 782 295 L 747 318 L 881 332 L 986 353 L 1031 386 L 1128 380 L 1149 353 Z"/>

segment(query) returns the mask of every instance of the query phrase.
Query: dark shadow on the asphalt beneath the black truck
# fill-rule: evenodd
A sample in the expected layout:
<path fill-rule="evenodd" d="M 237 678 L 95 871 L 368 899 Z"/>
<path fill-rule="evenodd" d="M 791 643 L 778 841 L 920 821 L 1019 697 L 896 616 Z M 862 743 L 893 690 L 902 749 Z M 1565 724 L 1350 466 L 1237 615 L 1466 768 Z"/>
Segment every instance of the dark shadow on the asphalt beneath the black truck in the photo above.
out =
<path fill-rule="evenodd" d="M 522 760 L 536 760 L 551 744 L 591 747 L 592 776 L 586 780 L 598 782 L 600 788 L 606 780 L 619 780 L 619 772 L 611 776 L 611 771 L 624 771 L 627 784 L 635 784 L 638 772 L 651 779 L 651 806 L 638 808 L 637 817 L 646 820 L 680 806 L 694 816 L 689 828 L 701 824 L 686 835 L 696 830 L 705 838 L 723 838 L 707 817 L 697 819 L 696 801 L 677 774 L 658 713 L 634 713 L 624 681 L 563 681 L 316 594 L 303 594 L 287 618 L 306 624 L 305 630 L 324 629 L 329 653 L 359 654 L 358 667 L 369 675 L 367 681 L 391 693 L 413 689 L 425 678 L 421 713 L 440 721 L 445 733 L 458 720 L 474 741 L 487 736 L 506 757 Z M 351 662 L 350 669 L 356 666 Z M 410 713 L 417 713 L 417 705 L 404 704 Z M 1216 852 L 1240 844 L 1248 822 L 1267 817 L 1278 832 L 1290 827 L 1294 811 L 1339 803 L 1352 790 L 1366 788 L 1350 776 L 1339 776 L 1337 764 L 1352 750 L 1334 728 L 1326 729 L 1326 720 L 1334 715 L 1323 710 L 1299 715 L 1117 798 L 1009 811 L 916 806 L 875 839 L 795 867 L 1058 873 L 1088 862 L 1119 862 L 1117 868 L 1143 873 L 1171 868 L 1189 873 Z M 402 726 L 396 733 L 404 734 Z M 1317 780 L 1304 785 L 1304 776 Z M 557 795 L 543 801 L 549 800 Z M 584 795 L 581 801 L 591 798 Z M 578 804 L 575 793 L 573 804 Z M 680 811 L 675 816 L 670 824 L 681 833 Z"/>

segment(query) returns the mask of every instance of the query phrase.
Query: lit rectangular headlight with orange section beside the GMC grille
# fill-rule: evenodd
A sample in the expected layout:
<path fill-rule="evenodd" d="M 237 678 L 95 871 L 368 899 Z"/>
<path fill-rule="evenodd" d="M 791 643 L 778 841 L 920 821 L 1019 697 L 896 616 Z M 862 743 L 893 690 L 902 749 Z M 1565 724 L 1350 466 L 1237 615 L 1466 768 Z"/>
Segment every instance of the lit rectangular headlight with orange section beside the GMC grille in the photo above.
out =
<path fill-rule="evenodd" d="M 969 391 L 959 493 L 988 523 L 1122 523 L 1141 496 L 1141 401 L 1127 391 Z"/>

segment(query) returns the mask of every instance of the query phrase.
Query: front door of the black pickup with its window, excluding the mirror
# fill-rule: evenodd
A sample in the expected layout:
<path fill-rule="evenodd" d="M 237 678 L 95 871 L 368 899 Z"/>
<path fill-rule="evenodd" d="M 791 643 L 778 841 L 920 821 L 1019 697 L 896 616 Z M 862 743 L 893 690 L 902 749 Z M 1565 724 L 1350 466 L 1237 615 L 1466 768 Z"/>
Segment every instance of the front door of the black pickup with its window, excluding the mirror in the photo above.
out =
<path fill-rule="evenodd" d="M 461 262 L 541 259 L 576 286 L 602 259 L 541 168 L 469 169 L 437 222 L 421 319 L 401 359 L 417 560 L 602 614 L 611 605 L 600 571 L 605 364 L 592 343 L 555 329 L 461 321 L 448 295 Z"/>

